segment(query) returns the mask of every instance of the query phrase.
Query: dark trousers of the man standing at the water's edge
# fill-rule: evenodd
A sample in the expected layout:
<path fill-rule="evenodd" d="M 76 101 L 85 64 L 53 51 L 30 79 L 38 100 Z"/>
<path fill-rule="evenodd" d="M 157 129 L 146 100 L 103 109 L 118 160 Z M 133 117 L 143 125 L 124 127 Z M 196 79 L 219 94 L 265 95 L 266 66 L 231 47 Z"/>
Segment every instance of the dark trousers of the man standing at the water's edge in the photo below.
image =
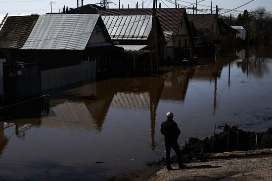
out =
<path fill-rule="evenodd" d="M 173 148 L 177 154 L 179 167 L 182 167 L 183 164 L 182 164 L 182 157 L 181 157 L 181 148 L 178 144 L 178 141 L 177 140 L 165 140 L 166 168 L 171 169 L 171 161 L 170 161 L 171 148 Z"/>

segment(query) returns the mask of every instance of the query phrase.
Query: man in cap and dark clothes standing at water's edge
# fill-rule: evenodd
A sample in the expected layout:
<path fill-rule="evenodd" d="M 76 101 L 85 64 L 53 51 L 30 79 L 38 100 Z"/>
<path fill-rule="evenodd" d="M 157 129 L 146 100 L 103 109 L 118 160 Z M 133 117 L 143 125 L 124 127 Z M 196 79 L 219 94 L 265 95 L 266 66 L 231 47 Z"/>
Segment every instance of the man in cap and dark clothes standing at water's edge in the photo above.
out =
<path fill-rule="evenodd" d="M 172 112 L 167 112 L 167 120 L 161 125 L 161 134 L 164 135 L 165 150 L 166 150 L 166 168 L 167 170 L 173 170 L 170 162 L 170 152 L 173 148 L 177 154 L 179 169 L 186 167 L 182 163 L 181 148 L 178 144 L 178 138 L 181 134 L 181 130 L 178 128 L 177 123 L 173 120 L 174 114 Z"/>

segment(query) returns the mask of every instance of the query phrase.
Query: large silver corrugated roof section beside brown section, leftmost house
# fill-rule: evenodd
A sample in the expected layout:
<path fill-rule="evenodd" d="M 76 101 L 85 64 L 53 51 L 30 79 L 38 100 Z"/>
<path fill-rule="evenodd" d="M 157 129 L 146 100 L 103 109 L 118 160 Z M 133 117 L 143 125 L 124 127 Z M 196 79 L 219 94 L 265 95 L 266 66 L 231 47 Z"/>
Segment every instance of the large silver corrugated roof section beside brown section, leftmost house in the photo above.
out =
<path fill-rule="evenodd" d="M 84 50 L 97 14 L 40 15 L 22 49 Z"/>

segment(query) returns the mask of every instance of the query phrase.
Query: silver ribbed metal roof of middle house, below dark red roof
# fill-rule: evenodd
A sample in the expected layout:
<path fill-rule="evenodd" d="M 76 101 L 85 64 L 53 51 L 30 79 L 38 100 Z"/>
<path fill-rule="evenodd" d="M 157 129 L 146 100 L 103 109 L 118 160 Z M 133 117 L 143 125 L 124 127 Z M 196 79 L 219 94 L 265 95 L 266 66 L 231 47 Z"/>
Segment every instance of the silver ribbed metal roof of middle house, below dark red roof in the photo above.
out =
<path fill-rule="evenodd" d="M 114 40 L 147 39 L 152 28 L 152 16 L 102 16 L 102 20 Z"/>

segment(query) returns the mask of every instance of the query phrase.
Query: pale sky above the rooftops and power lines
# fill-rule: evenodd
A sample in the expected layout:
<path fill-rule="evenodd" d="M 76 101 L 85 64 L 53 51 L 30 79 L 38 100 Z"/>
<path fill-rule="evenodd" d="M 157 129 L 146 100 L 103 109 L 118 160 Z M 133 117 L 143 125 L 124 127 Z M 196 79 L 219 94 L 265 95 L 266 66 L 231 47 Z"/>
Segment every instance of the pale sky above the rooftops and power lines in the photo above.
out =
<path fill-rule="evenodd" d="M 64 7 L 64 5 L 68 6 L 69 8 L 75 8 L 77 6 L 77 0 L 0 0 L 0 16 L 6 13 L 10 15 L 17 15 L 17 14 L 45 14 L 46 12 L 50 12 L 50 1 L 52 2 L 52 11 L 59 12 L 59 9 Z M 109 0 L 113 3 L 110 3 L 110 8 L 118 8 L 119 7 L 119 0 Z M 152 8 L 153 0 L 143 0 L 144 1 L 144 8 Z M 183 2 L 182 2 L 183 1 Z M 186 2 L 184 2 L 186 1 Z M 201 2 L 200 2 L 201 1 Z M 212 6 L 215 7 L 218 5 L 219 7 L 219 14 L 226 12 L 225 9 L 234 9 L 240 5 L 243 5 L 251 0 L 212 0 Z M 53 3 L 54 2 L 54 3 Z M 84 4 L 89 3 L 99 3 L 100 0 L 84 0 Z M 121 7 L 124 4 L 124 8 L 128 8 L 128 4 L 130 4 L 131 8 L 135 8 L 137 0 L 120 0 Z M 172 2 L 172 3 L 171 3 Z M 187 3 L 190 2 L 190 3 Z M 208 9 L 211 6 L 211 0 L 197 0 L 198 9 Z M 141 4 L 142 0 L 138 0 L 138 4 Z M 161 3 L 161 7 L 175 7 L 175 0 L 158 0 L 158 3 Z M 165 4 L 166 5 L 165 5 Z M 177 3 L 181 6 L 188 6 L 191 3 L 195 3 L 195 0 L 177 0 Z M 206 7 L 209 6 L 209 7 Z M 245 9 L 251 11 L 256 7 L 264 6 L 270 12 L 272 12 L 272 0 L 253 0 L 252 2 L 236 9 L 243 11 Z M 142 5 L 139 6 L 141 8 Z M 221 9 L 225 8 L 225 9 Z M 215 8 L 213 8 L 215 12 Z M 209 11 L 206 11 L 210 13 Z M 192 13 L 192 10 L 187 10 L 187 13 Z M 201 12 L 198 12 L 201 13 Z M 238 11 L 231 11 L 234 17 L 236 17 L 239 12 Z M 225 15 L 229 15 L 229 13 L 225 13 Z"/>

